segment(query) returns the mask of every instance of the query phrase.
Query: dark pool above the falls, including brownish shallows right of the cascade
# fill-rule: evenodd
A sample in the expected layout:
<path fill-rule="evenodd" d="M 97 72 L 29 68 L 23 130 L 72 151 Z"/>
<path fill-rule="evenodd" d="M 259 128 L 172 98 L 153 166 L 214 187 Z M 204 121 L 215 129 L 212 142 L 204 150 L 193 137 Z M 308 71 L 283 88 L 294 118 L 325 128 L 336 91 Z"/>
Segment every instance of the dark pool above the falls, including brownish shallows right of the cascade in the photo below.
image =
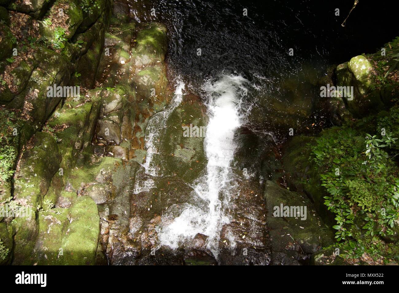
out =
<path fill-rule="evenodd" d="M 385 2 L 371 5 L 371 1 L 360 0 L 345 27 L 341 24 L 352 0 L 129 3 L 136 21 L 166 24 L 166 60 L 172 83 L 180 76 L 186 88 L 203 96 L 204 80 L 221 71 L 242 74 L 251 81 L 245 99 L 251 113 L 245 126 L 258 135 L 271 133 L 276 141 L 287 137 L 289 127 L 314 134 L 331 126 L 326 109 L 313 109 L 320 99 L 316 80 L 332 65 L 374 53 L 399 36 L 397 12 Z M 152 8 L 156 16 L 151 15 Z M 247 16 L 243 16 L 244 8 Z M 336 8 L 340 16 L 335 15 Z M 288 54 L 290 48 L 293 56 Z M 292 119 L 296 115 L 292 109 L 298 109 L 298 119 Z M 304 109 L 312 109 L 312 115 L 300 118 Z"/>

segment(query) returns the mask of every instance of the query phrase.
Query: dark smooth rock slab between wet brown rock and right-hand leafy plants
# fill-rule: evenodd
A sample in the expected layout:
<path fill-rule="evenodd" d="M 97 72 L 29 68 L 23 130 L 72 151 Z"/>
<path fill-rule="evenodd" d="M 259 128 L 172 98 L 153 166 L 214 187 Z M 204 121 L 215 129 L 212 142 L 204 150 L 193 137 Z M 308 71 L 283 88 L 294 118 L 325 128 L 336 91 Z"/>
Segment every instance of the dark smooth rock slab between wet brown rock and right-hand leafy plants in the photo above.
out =
<path fill-rule="evenodd" d="M 333 244 L 333 233 L 322 229 L 324 222 L 310 200 L 271 181 L 264 197 L 273 265 L 306 264 L 310 255 Z"/>

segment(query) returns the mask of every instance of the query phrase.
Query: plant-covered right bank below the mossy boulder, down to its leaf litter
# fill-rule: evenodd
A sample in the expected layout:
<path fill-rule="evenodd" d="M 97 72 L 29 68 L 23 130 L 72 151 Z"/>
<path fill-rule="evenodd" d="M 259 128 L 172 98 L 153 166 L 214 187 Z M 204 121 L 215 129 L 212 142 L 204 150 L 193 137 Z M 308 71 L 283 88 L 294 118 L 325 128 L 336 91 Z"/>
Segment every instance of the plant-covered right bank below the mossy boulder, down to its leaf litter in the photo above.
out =
<path fill-rule="evenodd" d="M 345 251 L 341 256 L 356 259 L 366 253 L 381 260 L 382 255 L 398 255 L 398 137 L 395 105 L 377 116 L 328 129 L 308 145 L 309 159 L 328 193 L 324 204 L 335 215 L 335 238 Z"/>

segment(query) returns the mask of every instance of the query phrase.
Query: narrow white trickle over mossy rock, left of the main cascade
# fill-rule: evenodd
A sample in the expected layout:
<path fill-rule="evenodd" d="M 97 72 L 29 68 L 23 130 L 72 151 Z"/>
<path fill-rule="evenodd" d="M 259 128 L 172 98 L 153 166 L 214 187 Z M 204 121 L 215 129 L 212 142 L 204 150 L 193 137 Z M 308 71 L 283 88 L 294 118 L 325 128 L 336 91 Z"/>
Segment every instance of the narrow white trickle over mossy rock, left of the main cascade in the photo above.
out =
<path fill-rule="evenodd" d="M 166 127 L 166 122 L 168 121 L 169 115 L 182 102 L 184 87 L 184 82 L 179 80 L 169 106 L 165 110 L 154 114 L 148 121 L 145 137 L 147 156 L 146 162 L 142 164 L 142 166 L 146 169 L 146 173 L 152 176 L 157 176 L 157 170 L 155 166 L 151 165 L 152 156 L 158 153 L 155 142 L 158 140 L 158 135 L 160 135 L 161 131 Z"/>

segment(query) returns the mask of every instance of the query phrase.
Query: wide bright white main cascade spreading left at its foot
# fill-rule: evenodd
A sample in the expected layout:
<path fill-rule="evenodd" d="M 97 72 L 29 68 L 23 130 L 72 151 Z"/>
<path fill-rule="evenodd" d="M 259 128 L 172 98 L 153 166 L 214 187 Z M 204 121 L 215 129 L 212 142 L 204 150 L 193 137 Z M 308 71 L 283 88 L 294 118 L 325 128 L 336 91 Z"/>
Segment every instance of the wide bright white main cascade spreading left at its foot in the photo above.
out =
<path fill-rule="evenodd" d="M 230 164 L 236 148 L 234 133 L 242 125 L 245 113 L 241 109 L 245 83 L 247 80 L 241 75 L 221 75 L 217 81 L 203 85 L 209 115 L 204 141 L 207 174 L 193 186 L 195 204 L 185 204 L 180 215 L 173 208 L 163 215 L 158 231 L 161 245 L 176 249 L 201 233 L 208 236 L 207 248 L 217 256 L 221 228 L 230 221 L 226 212 L 233 181 Z"/>

